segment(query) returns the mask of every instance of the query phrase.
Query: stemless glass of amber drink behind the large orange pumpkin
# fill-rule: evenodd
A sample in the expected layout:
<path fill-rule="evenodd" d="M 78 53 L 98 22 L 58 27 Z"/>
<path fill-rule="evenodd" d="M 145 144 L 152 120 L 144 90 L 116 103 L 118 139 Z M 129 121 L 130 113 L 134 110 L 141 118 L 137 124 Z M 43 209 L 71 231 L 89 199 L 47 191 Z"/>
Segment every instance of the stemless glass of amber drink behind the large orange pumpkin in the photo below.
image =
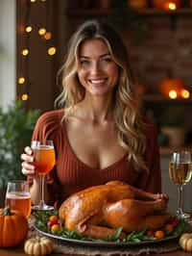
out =
<path fill-rule="evenodd" d="M 26 218 L 31 215 L 30 187 L 26 181 L 15 180 L 8 182 L 6 205 L 10 206 L 11 210 L 19 211 Z"/>

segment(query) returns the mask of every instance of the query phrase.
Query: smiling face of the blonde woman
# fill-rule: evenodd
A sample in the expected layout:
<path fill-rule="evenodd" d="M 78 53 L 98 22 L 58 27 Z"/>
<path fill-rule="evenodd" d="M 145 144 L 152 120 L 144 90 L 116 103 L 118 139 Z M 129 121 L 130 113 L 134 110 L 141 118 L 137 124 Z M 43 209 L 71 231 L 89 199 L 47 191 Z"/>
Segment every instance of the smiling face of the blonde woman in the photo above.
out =
<path fill-rule="evenodd" d="M 91 95 L 110 93 L 118 82 L 118 65 L 115 64 L 103 39 L 87 39 L 79 48 L 78 77 Z"/>

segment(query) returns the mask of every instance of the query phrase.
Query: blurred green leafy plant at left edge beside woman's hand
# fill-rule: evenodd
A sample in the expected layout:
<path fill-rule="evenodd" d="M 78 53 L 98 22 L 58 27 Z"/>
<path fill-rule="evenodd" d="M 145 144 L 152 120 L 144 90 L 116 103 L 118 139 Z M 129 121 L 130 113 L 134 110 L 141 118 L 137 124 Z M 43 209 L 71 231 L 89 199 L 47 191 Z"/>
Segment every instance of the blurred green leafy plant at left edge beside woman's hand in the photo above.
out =
<path fill-rule="evenodd" d="M 22 179 L 20 154 L 30 144 L 39 111 L 26 111 L 16 101 L 4 111 L 0 108 L 0 188 L 11 179 Z"/>

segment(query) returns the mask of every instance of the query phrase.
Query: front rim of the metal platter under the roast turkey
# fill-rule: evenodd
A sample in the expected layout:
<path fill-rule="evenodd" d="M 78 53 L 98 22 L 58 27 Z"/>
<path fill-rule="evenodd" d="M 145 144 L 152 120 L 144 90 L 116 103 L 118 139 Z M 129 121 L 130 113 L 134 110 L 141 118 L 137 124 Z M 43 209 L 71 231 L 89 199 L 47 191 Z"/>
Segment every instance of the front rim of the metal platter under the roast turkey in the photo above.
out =
<path fill-rule="evenodd" d="M 178 235 L 172 235 L 172 236 L 167 236 L 163 239 L 156 239 L 156 240 L 146 240 L 146 241 L 140 241 L 140 242 L 106 242 L 106 241 L 101 241 L 101 240 L 94 240 L 94 241 L 89 241 L 89 240 L 77 240 L 77 239 L 69 239 L 69 238 L 64 238 L 60 237 L 58 235 L 54 235 L 48 232 L 44 232 L 36 227 L 35 224 L 35 229 L 36 231 L 45 237 L 48 237 L 50 239 L 53 239 L 57 241 L 58 243 L 71 243 L 71 245 L 82 245 L 82 246 L 95 246 L 95 247 L 131 247 L 131 246 L 143 246 L 143 245 L 153 245 L 153 244 L 158 244 L 158 243 L 165 243 L 168 241 L 173 241 L 179 238 Z"/>

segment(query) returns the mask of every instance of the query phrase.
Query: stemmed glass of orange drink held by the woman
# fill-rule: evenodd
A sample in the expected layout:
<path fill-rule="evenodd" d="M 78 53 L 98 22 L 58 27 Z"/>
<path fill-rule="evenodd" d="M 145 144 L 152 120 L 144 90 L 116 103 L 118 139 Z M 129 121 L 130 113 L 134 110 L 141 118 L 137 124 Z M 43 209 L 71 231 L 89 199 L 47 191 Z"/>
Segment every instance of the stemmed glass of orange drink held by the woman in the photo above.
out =
<path fill-rule="evenodd" d="M 34 151 L 34 165 L 40 178 L 40 202 L 33 207 L 34 210 L 53 210 L 54 207 L 44 202 L 45 175 L 50 172 L 56 164 L 56 156 L 53 141 L 32 141 Z"/>

